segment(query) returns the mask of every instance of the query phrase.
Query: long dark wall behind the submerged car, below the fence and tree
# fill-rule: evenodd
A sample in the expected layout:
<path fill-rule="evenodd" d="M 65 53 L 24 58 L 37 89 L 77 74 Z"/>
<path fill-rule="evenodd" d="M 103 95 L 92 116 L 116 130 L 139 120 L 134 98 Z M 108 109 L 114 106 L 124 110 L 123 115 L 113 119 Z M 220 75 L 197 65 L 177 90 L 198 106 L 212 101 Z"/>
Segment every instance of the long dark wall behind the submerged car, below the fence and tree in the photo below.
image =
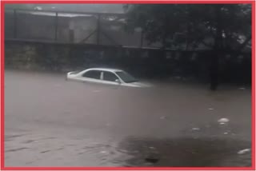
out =
<path fill-rule="evenodd" d="M 11 42 L 5 44 L 7 68 L 27 70 L 84 70 L 114 67 L 138 77 L 170 76 L 208 78 L 210 51 L 166 51 L 78 46 L 72 44 Z M 250 54 L 226 54 L 221 64 L 222 82 L 250 82 Z"/>

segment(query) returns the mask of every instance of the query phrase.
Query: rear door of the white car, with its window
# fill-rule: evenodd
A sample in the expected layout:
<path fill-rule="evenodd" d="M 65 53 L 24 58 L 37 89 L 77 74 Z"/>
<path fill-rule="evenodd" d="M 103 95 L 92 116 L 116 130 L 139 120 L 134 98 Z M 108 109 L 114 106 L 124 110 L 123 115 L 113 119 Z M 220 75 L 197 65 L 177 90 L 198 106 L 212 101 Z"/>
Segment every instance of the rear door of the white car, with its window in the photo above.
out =
<path fill-rule="evenodd" d="M 101 74 L 102 71 L 100 70 L 89 70 L 82 74 L 81 79 L 83 82 L 101 83 Z"/>

